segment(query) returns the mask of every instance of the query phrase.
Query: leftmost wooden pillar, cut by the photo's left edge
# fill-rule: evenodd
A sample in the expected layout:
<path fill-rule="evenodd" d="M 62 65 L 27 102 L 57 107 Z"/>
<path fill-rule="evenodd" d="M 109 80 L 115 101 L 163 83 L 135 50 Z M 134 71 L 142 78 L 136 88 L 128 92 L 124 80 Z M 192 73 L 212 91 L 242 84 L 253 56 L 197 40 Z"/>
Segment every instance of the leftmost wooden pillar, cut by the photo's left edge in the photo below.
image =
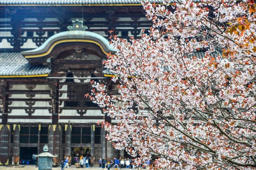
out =
<path fill-rule="evenodd" d="M 9 164 L 10 125 L 0 125 L 0 165 Z"/>

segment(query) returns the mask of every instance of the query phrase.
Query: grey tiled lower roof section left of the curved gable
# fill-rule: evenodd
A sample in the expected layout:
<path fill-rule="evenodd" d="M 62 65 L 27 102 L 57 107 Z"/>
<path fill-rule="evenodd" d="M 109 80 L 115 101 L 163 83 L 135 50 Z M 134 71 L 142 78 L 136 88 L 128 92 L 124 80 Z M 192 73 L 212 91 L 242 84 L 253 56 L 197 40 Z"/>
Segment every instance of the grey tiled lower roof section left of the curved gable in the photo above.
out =
<path fill-rule="evenodd" d="M 32 66 L 18 52 L 0 53 L 0 77 L 26 77 L 29 75 L 45 75 L 51 70 L 43 65 Z"/>

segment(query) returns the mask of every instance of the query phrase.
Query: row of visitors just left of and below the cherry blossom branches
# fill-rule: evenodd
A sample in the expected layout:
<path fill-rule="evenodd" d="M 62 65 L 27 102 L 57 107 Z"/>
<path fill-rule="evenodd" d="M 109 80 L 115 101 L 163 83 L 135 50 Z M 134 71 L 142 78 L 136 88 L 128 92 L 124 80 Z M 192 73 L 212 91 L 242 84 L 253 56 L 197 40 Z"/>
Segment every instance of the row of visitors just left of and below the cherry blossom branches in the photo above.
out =
<path fill-rule="evenodd" d="M 99 167 L 98 168 L 103 168 L 107 166 L 108 170 L 110 168 L 127 168 L 127 169 L 133 169 L 134 168 L 134 159 L 122 159 L 119 161 L 119 159 L 111 159 L 110 162 L 107 164 L 107 160 L 104 159 L 99 159 Z"/>

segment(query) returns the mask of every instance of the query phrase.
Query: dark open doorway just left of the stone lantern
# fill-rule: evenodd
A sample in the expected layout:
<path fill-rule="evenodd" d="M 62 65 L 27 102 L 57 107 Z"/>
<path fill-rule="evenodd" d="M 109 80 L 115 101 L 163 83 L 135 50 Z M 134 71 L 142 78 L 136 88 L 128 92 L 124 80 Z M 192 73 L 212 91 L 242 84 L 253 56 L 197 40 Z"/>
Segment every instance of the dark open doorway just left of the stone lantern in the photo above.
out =
<path fill-rule="evenodd" d="M 20 147 L 20 164 L 37 164 L 36 157 L 37 147 Z"/>

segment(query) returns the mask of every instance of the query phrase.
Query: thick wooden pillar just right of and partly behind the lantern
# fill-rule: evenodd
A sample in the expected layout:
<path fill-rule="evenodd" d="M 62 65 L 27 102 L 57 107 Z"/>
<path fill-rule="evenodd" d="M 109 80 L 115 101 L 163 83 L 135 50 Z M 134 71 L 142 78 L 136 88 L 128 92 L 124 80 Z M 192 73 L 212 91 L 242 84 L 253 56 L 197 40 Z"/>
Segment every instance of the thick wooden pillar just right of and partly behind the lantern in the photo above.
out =
<path fill-rule="evenodd" d="M 61 126 L 60 125 L 49 125 L 48 130 L 48 143 L 49 143 L 49 153 L 56 155 L 53 158 L 53 166 L 59 165 L 59 155 L 60 155 L 60 140 L 61 140 Z"/>

